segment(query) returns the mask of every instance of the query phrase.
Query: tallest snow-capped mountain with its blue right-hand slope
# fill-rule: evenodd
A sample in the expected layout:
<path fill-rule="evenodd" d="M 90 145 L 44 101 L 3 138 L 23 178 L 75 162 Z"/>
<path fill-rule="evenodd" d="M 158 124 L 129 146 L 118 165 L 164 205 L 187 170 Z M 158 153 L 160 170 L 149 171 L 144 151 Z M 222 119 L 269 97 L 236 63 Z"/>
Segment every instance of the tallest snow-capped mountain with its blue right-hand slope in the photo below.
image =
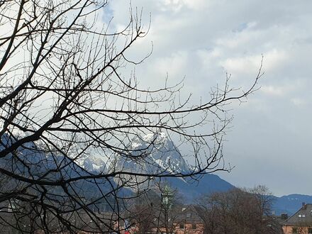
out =
<path fill-rule="evenodd" d="M 172 140 L 165 133 L 148 134 L 143 137 L 135 138 L 130 143 L 130 153 L 127 155 L 118 155 L 116 163 L 111 169 L 122 172 L 136 172 L 143 174 L 188 174 L 191 172 L 189 166 L 174 145 Z M 146 186 L 152 186 L 150 181 L 144 182 L 146 177 L 130 176 L 124 177 L 127 180 L 139 182 L 140 189 Z M 172 188 L 177 189 L 186 202 L 191 202 L 200 194 L 207 194 L 213 191 L 226 191 L 234 186 L 225 182 L 214 174 L 204 174 L 198 182 L 186 182 L 182 177 L 165 177 Z M 133 182 L 133 184 L 138 184 Z M 137 189 L 133 186 L 133 189 Z"/>

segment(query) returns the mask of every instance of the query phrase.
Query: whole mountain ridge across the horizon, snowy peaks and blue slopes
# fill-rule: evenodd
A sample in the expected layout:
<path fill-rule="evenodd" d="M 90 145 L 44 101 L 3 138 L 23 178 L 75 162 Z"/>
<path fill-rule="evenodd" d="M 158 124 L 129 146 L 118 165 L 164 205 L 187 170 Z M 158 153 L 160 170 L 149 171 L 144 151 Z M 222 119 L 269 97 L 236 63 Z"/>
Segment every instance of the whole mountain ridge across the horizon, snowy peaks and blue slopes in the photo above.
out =
<path fill-rule="evenodd" d="M 3 137 L 1 138 L 2 144 L 11 144 L 11 139 Z M 151 143 L 152 142 L 152 143 Z M 156 147 L 155 147 L 156 146 Z M 4 146 L 1 146 L 4 147 Z M 192 167 L 187 165 L 184 161 L 182 154 L 177 150 L 172 140 L 170 140 L 167 135 L 147 135 L 143 138 L 136 138 L 130 145 L 131 157 L 124 157 L 116 155 L 116 165 L 113 168 L 106 167 L 107 162 L 105 162 L 101 157 L 95 155 L 89 155 L 85 157 L 81 162 L 69 162 L 68 159 L 62 156 L 57 156 L 57 161 L 60 165 L 68 165 L 62 168 L 62 172 L 66 177 L 79 176 L 79 174 L 85 174 L 87 172 L 106 172 L 109 169 L 118 169 L 120 171 L 130 171 L 135 172 L 152 172 L 160 174 L 170 174 L 175 173 L 185 173 L 191 172 Z M 34 143 L 28 143 L 24 145 L 24 148 L 19 149 L 19 153 L 25 155 L 25 160 L 28 160 L 31 167 L 36 174 L 45 174 L 47 170 L 56 169 L 55 161 L 52 160 L 51 155 L 43 155 L 37 150 L 37 146 Z M 143 160 L 141 157 L 145 156 Z M 136 157 L 136 158 L 135 158 Z M 12 167 L 12 162 L 10 162 L 11 157 L 1 158 L 0 165 L 7 169 L 19 169 L 21 172 L 24 171 L 23 165 L 18 162 L 14 163 Z M 41 162 L 41 163 L 39 163 Z M 43 162 L 43 163 L 42 163 Z M 87 172 L 83 172 L 79 166 L 83 167 Z M 23 172 L 27 176 L 27 172 Z M 50 178 L 47 179 L 55 180 L 60 177 L 59 174 L 51 172 Z M 163 179 L 172 189 L 177 189 L 182 196 L 184 196 L 185 202 L 188 204 L 194 203 L 194 199 L 197 199 L 201 194 L 209 194 L 217 191 L 228 191 L 229 189 L 235 188 L 233 184 L 226 182 L 221 179 L 216 174 L 201 174 L 193 179 L 184 179 L 182 177 L 167 177 Z M 148 179 L 147 182 L 150 180 Z M 91 196 L 95 192 L 92 189 L 92 184 L 88 182 L 82 183 L 85 188 L 88 188 L 85 193 L 87 196 Z M 80 184 L 82 186 L 82 184 Z M 113 184 L 113 186 L 117 186 Z M 126 187 L 125 189 L 135 189 L 138 187 Z M 145 186 L 147 188 L 147 185 Z M 105 190 L 105 187 L 103 187 Z M 123 190 L 126 194 L 128 191 Z M 134 191 L 134 190 L 133 190 Z M 130 191 L 129 191 L 130 192 Z M 274 203 L 272 206 L 272 211 L 276 215 L 281 213 L 288 213 L 289 215 L 294 214 L 301 208 L 302 203 L 311 203 L 312 196 L 305 194 L 289 194 L 284 196 L 272 196 Z"/>

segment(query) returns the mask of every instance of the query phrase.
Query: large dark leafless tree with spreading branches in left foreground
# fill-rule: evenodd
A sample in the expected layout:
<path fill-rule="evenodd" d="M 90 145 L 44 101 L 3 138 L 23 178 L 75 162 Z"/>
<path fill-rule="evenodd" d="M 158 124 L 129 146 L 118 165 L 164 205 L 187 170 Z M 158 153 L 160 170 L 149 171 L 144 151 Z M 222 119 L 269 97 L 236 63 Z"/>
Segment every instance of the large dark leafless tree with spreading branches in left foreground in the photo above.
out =
<path fill-rule="evenodd" d="M 261 66 L 245 91 L 230 87 L 227 77 L 201 101 L 183 101 L 182 84 L 140 87 L 134 75 L 121 72 L 142 62 L 126 51 L 145 37 L 149 24 L 144 27 L 140 12 L 130 9 L 123 30 L 112 31 L 109 22 L 99 26 L 106 6 L 96 0 L 0 1 L 3 226 L 22 233 L 119 231 L 112 220 L 123 218 L 128 199 L 136 196 L 125 188 L 229 169 L 222 154 L 232 120 L 226 105 L 255 91 Z M 156 137 L 133 150 L 133 138 L 145 140 L 147 133 Z M 147 158 L 161 144 L 161 133 L 193 149 L 189 171 L 115 166 L 117 157 L 152 164 Z M 106 169 L 85 169 L 92 155 L 106 158 Z"/>

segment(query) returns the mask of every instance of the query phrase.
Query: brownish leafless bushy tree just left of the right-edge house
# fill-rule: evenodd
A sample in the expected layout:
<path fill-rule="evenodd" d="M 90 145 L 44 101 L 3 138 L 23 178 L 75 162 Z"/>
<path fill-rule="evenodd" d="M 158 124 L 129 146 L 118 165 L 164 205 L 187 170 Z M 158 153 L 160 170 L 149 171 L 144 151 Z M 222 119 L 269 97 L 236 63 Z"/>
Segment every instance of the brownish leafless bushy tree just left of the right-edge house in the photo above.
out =
<path fill-rule="evenodd" d="M 272 201 L 265 186 L 203 196 L 199 205 L 205 233 L 282 233 L 281 225 L 270 216 Z"/>

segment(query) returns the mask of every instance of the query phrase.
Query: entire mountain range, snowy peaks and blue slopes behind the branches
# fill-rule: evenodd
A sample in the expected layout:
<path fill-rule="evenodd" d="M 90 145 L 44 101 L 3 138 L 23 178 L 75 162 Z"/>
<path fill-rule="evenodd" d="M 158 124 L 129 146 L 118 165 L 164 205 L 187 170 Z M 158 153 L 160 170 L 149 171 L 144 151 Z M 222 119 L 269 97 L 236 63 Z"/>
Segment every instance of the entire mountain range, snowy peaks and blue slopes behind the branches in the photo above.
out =
<path fill-rule="evenodd" d="M 14 140 L 8 135 L 2 135 L 0 142 L 1 151 L 4 150 L 4 147 L 11 145 Z M 148 134 L 142 138 L 135 138 L 130 143 L 129 149 L 130 154 L 128 154 L 128 157 L 127 155 L 119 155 L 110 160 L 114 162 L 111 164 L 110 169 L 123 172 L 158 172 L 161 174 L 168 174 L 171 172 L 187 173 L 191 168 L 186 164 L 182 154 L 177 150 L 172 140 L 164 133 L 157 135 Z M 62 155 L 54 155 L 52 157 L 51 153 L 40 150 L 40 147 L 35 143 L 24 144 L 23 147 L 18 148 L 15 154 L 14 157 L 12 154 L 2 157 L 0 159 L 0 167 L 9 172 L 20 174 L 23 177 L 28 177 L 29 173 L 33 174 L 35 179 L 45 175 L 44 179 L 48 181 L 57 181 L 60 177 L 62 177 L 62 179 L 81 177 L 89 175 L 89 172 L 105 173 L 107 168 L 107 161 L 99 154 L 89 154 L 79 158 L 79 160 L 71 161 L 69 158 Z M 17 160 L 17 158 L 23 160 L 23 163 Z M 26 168 L 25 165 L 28 165 L 28 167 Z M 50 171 L 50 173 L 47 174 L 48 171 Z M 232 184 L 215 174 L 204 174 L 194 183 L 188 183 L 186 180 L 179 177 L 168 177 L 163 180 L 165 180 L 172 189 L 177 189 L 179 193 L 184 196 L 184 202 L 194 202 L 194 199 L 201 194 L 215 191 L 227 191 L 228 189 L 234 188 Z M 142 178 L 142 181 L 144 181 L 144 178 Z M 136 177 L 133 184 L 137 184 L 138 182 L 140 182 L 140 177 Z M 2 185 L 2 191 L 11 191 L 11 189 L 14 189 L 14 179 L 11 179 L 10 183 Z M 146 184 L 141 184 L 141 186 L 143 185 L 146 186 Z M 82 193 L 81 195 L 85 198 L 94 197 L 99 193 L 99 189 L 94 186 L 93 180 L 77 181 L 75 182 L 75 186 L 77 188 L 84 188 L 79 189 L 79 192 Z M 107 183 L 104 183 L 103 179 L 99 179 L 99 186 L 102 191 L 109 191 L 109 189 L 117 187 L 115 182 L 111 179 L 109 179 Z M 133 186 L 133 189 L 134 188 L 135 186 Z M 120 189 L 120 191 L 123 194 L 130 194 L 127 188 Z M 54 189 L 54 192 L 56 194 L 63 194 L 62 191 L 57 188 Z M 274 196 L 273 211 L 277 215 L 280 213 L 288 213 L 291 215 L 301 207 L 302 202 L 311 204 L 312 196 L 301 194 L 291 194 L 281 197 Z"/>

